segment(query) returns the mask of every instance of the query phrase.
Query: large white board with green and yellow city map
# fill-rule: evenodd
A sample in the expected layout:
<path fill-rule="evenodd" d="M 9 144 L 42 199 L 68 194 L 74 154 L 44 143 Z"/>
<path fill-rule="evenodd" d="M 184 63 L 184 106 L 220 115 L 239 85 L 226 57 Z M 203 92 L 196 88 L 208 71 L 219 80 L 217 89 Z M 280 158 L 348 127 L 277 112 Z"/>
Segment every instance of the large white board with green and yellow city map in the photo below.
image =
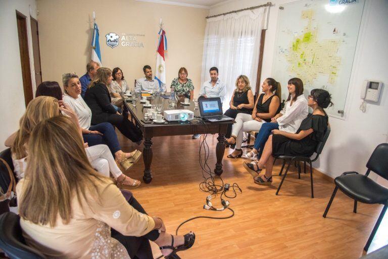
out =
<path fill-rule="evenodd" d="M 364 0 L 304 0 L 280 6 L 272 76 L 286 99 L 288 79 L 299 77 L 304 94 L 329 91 L 331 115 L 345 108 Z"/>

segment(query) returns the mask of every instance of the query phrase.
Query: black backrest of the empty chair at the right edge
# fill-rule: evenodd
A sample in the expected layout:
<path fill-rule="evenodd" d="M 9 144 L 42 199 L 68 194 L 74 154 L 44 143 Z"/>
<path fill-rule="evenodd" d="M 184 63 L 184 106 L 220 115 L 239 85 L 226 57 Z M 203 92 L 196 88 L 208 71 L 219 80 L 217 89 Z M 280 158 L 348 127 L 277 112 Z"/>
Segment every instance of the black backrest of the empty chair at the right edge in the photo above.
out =
<path fill-rule="evenodd" d="M 388 143 L 382 143 L 374 149 L 366 167 L 388 180 Z"/>

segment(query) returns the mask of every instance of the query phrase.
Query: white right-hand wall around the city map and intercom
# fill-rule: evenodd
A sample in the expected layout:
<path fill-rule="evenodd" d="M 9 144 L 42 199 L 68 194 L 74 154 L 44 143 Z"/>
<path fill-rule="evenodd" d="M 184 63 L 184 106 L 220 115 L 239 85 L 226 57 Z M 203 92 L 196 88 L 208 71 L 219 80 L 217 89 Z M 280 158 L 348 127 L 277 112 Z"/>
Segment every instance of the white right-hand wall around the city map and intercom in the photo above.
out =
<path fill-rule="evenodd" d="M 271 76 L 275 47 L 276 23 L 279 5 L 290 0 L 272 0 L 269 27 L 265 35 L 263 70 L 261 78 Z M 210 15 L 265 4 L 267 1 L 240 0 L 214 6 Z M 329 118 L 331 134 L 314 167 L 325 174 L 336 177 L 344 171 L 365 172 L 365 164 L 373 149 L 388 141 L 388 1 L 366 0 L 361 21 L 354 65 L 350 78 L 345 119 Z M 378 104 L 368 104 L 366 112 L 359 110 L 360 86 L 364 79 L 382 81 L 383 86 Z M 283 83 L 284 85 L 284 83 Z M 283 90 L 285 91 L 285 90 Z M 379 178 L 386 186 L 388 183 Z"/>

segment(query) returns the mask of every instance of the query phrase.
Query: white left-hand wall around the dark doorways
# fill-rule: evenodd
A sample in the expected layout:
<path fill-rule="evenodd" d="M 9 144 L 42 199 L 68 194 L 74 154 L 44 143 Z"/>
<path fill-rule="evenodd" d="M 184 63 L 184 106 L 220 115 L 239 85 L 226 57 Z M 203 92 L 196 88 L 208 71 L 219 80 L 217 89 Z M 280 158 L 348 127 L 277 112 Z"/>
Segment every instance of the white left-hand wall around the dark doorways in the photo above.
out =
<path fill-rule="evenodd" d="M 27 16 L 27 33 L 31 74 L 34 75 L 32 53 L 31 16 L 36 19 L 35 0 L 0 0 L 0 150 L 4 141 L 19 128 L 19 118 L 25 111 L 22 68 L 20 63 L 19 38 L 16 10 Z M 35 77 L 32 76 L 35 92 Z"/>

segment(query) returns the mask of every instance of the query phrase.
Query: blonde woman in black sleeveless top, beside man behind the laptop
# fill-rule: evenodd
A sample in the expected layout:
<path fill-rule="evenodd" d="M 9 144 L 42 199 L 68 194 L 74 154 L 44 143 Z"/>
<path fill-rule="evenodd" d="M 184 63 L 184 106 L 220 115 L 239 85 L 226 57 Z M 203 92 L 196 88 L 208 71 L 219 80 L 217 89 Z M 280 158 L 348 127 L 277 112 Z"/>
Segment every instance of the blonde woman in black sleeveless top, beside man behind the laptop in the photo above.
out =
<path fill-rule="evenodd" d="M 238 113 L 251 114 L 255 101 L 253 100 L 253 93 L 249 78 L 246 75 L 239 75 L 236 79 L 236 89 L 234 89 L 232 98 L 229 102 L 230 108 L 227 109 L 224 115 L 236 118 Z M 230 138 L 232 133 L 232 124 L 228 124 L 228 130 L 225 138 Z"/>

